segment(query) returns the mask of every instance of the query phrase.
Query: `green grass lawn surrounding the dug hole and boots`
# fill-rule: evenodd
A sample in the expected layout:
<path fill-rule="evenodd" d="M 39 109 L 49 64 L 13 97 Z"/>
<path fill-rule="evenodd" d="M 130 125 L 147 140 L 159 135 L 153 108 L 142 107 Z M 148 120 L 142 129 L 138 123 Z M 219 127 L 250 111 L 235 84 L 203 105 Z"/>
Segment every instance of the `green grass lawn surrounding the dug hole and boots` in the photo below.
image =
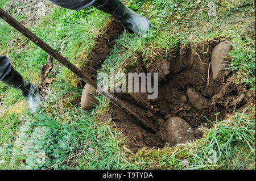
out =
<path fill-rule="evenodd" d="M 236 83 L 255 91 L 254 1 L 124 2 L 147 16 L 152 30 L 145 37 L 125 31 L 98 72 L 108 73 L 110 68 L 124 71 L 121 68 L 125 60 L 138 53 L 147 57 L 156 48 L 171 51 L 191 45 L 193 49 L 200 41 L 228 40 L 233 46 L 230 57 L 232 69 L 237 70 Z M 216 16 L 208 14 L 210 2 L 216 4 Z M 0 7 L 5 3 L 1 1 Z M 72 11 L 50 4 L 47 15 L 32 25 L 26 17 L 13 16 L 79 68 L 94 45 L 94 36 L 109 18 L 93 8 Z M 46 64 L 47 53 L 3 20 L 0 54 L 10 58 L 24 79 L 39 83 L 40 67 Z M 203 138 L 191 145 L 167 145 L 164 149 L 143 149 L 131 155 L 123 149 L 127 138 L 111 125 L 98 123 L 97 116 L 108 110 L 109 101 L 98 96 L 100 104 L 91 111 L 83 111 L 77 104 L 82 89 L 76 87 L 76 76 L 62 66 L 56 78 L 49 85 L 46 105 L 36 114 L 27 110 L 19 91 L 0 83 L 0 169 L 255 169 L 255 104 L 249 107 L 250 115 L 235 112 L 223 121 L 215 121 L 212 128 L 203 128 Z M 65 140 L 57 134 L 71 141 L 68 147 L 61 146 Z M 35 142 L 41 147 L 27 151 L 27 146 Z M 51 157 L 46 165 L 38 162 L 42 158 L 38 150 L 42 149 Z M 22 159 L 29 164 L 22 164 Z M 183 165 L 184 159 L 188 160 L 188 167 Z"/>

